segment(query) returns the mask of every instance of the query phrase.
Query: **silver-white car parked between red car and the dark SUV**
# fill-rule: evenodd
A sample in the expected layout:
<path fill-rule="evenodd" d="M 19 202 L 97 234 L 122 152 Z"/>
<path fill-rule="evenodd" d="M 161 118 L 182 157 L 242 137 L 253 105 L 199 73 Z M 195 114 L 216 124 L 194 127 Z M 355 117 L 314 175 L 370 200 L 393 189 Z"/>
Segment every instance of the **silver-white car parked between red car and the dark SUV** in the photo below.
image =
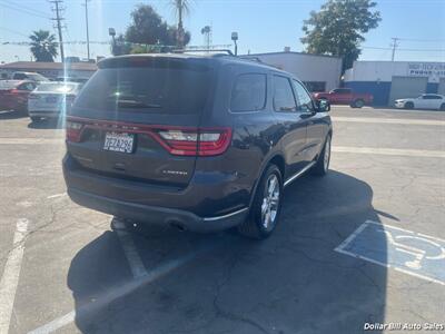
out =
<path fill-rule="evenodd" d="M 28 114 L 32 121 L 58 118 L 71 108 L 80 89 L 77 82 L 42 82 L 28 99 Z"/>

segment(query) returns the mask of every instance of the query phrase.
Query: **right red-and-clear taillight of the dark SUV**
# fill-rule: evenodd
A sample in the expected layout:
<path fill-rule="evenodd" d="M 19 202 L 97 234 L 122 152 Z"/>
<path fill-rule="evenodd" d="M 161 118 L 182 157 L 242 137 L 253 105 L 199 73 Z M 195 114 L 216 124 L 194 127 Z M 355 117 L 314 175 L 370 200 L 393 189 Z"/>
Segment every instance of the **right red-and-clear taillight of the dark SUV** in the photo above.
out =
<path fill-rule="evenodd" d="M 231 140 L 230 128 L 158 130 L 160 144 L 176 156 L 217 156 L 226 151 Z"/>

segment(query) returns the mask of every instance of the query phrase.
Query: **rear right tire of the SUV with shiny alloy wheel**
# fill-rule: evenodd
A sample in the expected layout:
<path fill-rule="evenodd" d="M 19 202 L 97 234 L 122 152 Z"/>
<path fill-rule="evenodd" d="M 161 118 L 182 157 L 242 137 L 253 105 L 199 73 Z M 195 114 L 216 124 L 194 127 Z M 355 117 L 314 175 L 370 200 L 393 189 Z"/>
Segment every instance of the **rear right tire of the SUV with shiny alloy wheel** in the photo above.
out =
<path fill-rule="evenodd" d="M 276 165 L 263 174 L 246 220 L 238 233 L 253 239 L 265 239 L 271 235 L 279 222 L 283 198 L 283 176 Z"/>

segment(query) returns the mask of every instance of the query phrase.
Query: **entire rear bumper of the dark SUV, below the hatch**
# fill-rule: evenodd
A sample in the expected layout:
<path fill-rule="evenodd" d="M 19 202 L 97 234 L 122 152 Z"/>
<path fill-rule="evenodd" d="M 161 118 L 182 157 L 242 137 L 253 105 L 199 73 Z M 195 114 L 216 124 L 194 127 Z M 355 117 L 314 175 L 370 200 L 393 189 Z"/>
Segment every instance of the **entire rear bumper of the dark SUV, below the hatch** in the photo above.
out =
<path fill-rule="evenodd" d="M 197 171 L 186 188 L 152 185 L 86 170 L 63 159 L 68 194 L 77 204 L 138 222 L 174 224 L 195 232 L 221 230 L 247 216 L 250 194 L 233 174 Z"/>

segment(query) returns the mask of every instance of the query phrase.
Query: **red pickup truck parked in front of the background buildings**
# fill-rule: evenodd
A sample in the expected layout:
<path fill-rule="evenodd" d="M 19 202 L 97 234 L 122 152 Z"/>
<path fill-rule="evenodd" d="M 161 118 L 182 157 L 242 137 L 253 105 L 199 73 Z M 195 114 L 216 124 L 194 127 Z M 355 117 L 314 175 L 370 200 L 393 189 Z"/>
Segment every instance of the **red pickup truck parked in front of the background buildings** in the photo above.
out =
<path fill-rule="evenodd" d="M 330 105 L 349 105 L 353 108 L 362 108 L 373 104 L 373 95 L 354 92 L 350 88 L 336 88 L 329 92 L 314 92 L 318 100 L 328 100 Z"/>

